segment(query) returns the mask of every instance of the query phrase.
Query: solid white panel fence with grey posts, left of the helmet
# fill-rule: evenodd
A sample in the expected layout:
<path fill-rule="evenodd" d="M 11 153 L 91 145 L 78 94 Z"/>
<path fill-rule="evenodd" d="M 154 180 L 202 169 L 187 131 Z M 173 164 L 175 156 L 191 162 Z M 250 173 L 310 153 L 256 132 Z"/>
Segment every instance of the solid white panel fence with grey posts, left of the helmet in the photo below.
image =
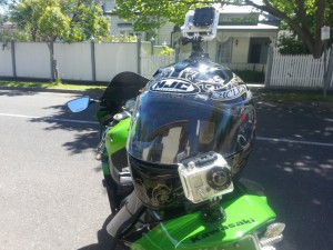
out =
<path fill-rule="evenodd" d="M 65 80 L 110 81 L 122 71 L 139 72 L 138 44 L 54 43 L 59 77 Z M 51 79 L 51 59 L 44 42 L 9 42 L 0 49 L 0 77 Z"/>

